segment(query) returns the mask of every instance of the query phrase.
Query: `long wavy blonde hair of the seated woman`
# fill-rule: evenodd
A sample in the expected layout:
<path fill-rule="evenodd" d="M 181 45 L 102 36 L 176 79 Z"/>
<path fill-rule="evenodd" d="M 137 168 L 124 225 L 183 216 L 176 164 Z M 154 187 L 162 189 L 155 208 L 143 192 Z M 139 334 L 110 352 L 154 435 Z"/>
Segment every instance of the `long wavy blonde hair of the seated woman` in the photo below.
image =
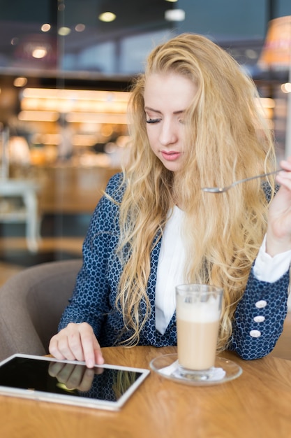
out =
<path fill-rule="evenodd" d="M 147 137 L 144 87 L 153 73 L 175 73 L 197 87 L 186 114 L 187 157 L 174 174 L 154 155 Z M 150 254 L 163 235 L 168 212 L 178 202 L 185 212 L 186 281 L 223 288 L 218 351 L 227 346 L 234 311 L 267 230 L 268 202 L 260 180 L 219 195 L 201 188 L 222 187 L 276 167 L 273 136 L 255 98 L 255 85 L 239 64 L 196 34 L 181 34 L 158 45 L 147 59 L 145 73 L 135 80 L 118 248 L 124 269 L 117 306 L 126 327 L 133 329 L 128 345 L 138 343 L 151 311 L 147 297 Z M 269 184 L 274 194 L 274 181 Z M 145 318 L 140 316 L 141 304 Z"/>

